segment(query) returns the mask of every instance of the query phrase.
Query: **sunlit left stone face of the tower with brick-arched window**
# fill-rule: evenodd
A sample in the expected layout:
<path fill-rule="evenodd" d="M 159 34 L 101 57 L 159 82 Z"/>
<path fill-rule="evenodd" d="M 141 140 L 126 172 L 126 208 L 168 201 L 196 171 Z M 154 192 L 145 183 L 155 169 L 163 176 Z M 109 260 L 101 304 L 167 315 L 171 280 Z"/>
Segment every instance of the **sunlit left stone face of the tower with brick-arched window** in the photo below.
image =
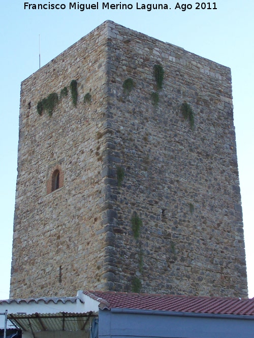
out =
<path fill-rule="evenodd" d="M 106 25 L 61 53 L 21 84 L 18 178 L 11 297 L 75 295 L 102 284 L 104 233 L 102 138 L 106 105 Z M 78 82 L 78 103 L 70 82 Z M 68 88 L 52 117 L 37 103 Z M 83 103 L 89 92 L 91 104 Z M 47 194 L 51 169 L 64 185 Z"/>

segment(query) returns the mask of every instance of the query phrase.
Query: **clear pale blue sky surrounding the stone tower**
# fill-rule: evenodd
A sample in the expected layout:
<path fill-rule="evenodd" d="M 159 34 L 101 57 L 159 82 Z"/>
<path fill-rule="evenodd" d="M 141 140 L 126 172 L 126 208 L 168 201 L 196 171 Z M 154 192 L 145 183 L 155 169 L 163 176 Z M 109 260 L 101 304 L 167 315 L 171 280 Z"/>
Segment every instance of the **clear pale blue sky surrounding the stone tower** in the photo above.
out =
<path fill-rule="evenodd" d="M 114 10 L 103 9 L 100 0 L 99 9 L 80 11 L 69 9 L 70 2 L 65 0 L 31 1 L 30 4 L 47 6 L 63 4 L 66 9 L 33 10 L 30 7 L 29 10 L 24 9 L 21 0 L 3 1 L 0 7 L 0 299 L 9 298 L 10 288 L 20 83 L 39 68 L 39 35 L 43 66 L 105 20 L 113 20 L 231 68 L 248 289 L 249 297 L 254 297 L 254 2 L 219 0 L 200 3 L 200 8 L 203 4 L 206 9 L 196 9 L 195 1 L 122 0 L 122 4 L 132 4 L 133 9 Z M 78 3 L 96 4 L 93 0 L 81 0 L 76 2 L 76 7 Z M 141 4 L 156 3 L 167 4 L 171 9 L 137 9 Z M 120 2 L 109 2 L 113 4 Z M 189 9 L 182 10 L 184 4 L 188 4 Z"/>

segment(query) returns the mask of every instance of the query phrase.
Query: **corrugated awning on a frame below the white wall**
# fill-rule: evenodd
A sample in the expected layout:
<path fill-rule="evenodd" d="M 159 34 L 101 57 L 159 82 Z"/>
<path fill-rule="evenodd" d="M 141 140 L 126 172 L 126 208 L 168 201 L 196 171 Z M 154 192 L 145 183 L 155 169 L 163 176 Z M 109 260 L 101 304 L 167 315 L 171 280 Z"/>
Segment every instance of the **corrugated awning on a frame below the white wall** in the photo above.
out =
<path fill-rule="evenodd" d="M 8 319 L 24 331 L 29 331 L 35 336 L 39 331 L 88 331 L 92 319 L 98 315 L 92 311 L 88 313 L 65 313 L 54 314 L 9 314 Z"/>

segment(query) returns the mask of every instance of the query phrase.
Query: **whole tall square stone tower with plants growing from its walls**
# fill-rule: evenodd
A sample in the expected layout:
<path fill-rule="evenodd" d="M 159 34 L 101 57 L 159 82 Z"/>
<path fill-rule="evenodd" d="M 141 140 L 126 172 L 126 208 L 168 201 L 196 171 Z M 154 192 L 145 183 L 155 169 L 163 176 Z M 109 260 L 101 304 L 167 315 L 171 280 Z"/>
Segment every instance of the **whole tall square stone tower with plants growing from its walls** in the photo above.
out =
<path fill-rule="evenodd" d="M 112 21 L 21 84 L 10 297 L 78 289 L 247 296 L 230 69 Z"/>

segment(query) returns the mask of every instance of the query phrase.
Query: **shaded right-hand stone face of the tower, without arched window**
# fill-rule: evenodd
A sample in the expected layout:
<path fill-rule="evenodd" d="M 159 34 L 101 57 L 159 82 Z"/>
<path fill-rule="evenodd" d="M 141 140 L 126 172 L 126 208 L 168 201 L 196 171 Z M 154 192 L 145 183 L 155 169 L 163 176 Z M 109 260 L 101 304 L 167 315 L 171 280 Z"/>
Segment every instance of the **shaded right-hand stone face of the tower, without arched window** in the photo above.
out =
<path fill-rule="evenodd" d="M 231 72 L 109 23 L 111 281 L 116 290 L 247 296 Z M 154 64 L 165 71 L 157 107 Z M 132 78 L 130 95 L 123 92 Z M 181 113 L 187 102 L 194 130 Z M 111 172 L 110 172 L 111 170 Z M 132 216 L 142 220 L 134 238 Z"/>

